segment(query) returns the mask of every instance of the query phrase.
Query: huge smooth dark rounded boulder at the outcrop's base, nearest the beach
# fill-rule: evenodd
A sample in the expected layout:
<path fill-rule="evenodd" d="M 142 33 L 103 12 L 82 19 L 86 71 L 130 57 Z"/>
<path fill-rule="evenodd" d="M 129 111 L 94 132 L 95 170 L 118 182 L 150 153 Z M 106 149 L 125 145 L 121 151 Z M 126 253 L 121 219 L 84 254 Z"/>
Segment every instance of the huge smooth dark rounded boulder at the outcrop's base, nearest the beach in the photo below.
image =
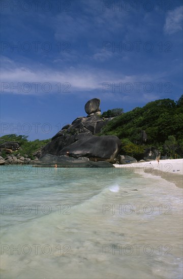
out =
<path fill-rule="evenodd" d="M 121 146 L 119 138 L 115 135 L 106 136 L 85 136 L 77 142 L 63 148 L 58 155 L 65 155 L 74 158 L 87 157 L 90 160 L 104 160 L 115 163 Z"/>

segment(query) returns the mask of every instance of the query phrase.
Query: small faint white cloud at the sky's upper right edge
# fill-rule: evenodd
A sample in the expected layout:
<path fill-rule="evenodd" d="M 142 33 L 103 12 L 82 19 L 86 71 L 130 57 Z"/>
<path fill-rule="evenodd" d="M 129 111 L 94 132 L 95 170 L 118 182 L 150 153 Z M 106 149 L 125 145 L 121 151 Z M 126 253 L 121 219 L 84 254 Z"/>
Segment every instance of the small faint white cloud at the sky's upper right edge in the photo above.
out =
<path fill-rule="evenodd" d="M 182 30 L 182 8 L 183 6 L 175 8 L 173 11 L 168 12 L 166 17 L 166 23 L 164 25 L 164 31 L 167 34 L 173 34 Z"/>

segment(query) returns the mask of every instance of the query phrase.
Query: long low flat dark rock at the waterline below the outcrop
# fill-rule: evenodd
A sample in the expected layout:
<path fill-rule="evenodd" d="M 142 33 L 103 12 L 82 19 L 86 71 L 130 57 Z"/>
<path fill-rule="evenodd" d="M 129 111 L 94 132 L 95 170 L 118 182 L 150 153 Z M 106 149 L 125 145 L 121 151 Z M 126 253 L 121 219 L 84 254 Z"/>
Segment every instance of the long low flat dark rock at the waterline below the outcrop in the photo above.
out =
<path fill-rule="evenodd" d="M 108 162 L 93 162 L 88 158 L 71 158 L 67 156 L 55 156 L 50 154 L 43 155 L 39 160 L 31 162 L 34 166 L 52 166 L 57 164 L 57 167 L 114 167 Z"/>

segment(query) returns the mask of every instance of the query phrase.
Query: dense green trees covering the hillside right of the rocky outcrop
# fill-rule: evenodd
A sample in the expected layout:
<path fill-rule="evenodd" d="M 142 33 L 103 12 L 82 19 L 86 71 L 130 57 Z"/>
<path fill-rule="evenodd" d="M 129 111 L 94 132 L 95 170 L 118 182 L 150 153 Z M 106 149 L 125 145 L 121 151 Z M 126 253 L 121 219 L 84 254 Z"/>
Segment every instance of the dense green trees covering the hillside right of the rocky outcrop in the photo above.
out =
<path fill-rule="evenodd" d="M 141 142 L 141 131 L 147 141 Z M 154 146 L 162 155 L 183 157 L 183 95 L 177 102 L 161 99 L 147 103 L 143 108 L 123 113 L 102 129 L 100 135 L 116 135 L 126 155 L 138 155 L 142 149 Z M 124 145 L 126 141 L 126 145 Z"/>

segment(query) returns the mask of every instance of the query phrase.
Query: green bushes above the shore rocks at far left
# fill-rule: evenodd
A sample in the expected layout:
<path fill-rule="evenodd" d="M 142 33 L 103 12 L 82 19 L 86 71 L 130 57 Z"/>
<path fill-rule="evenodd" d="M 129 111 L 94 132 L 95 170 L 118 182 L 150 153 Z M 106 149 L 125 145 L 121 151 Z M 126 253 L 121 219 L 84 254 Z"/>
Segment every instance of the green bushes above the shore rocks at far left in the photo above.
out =
<path fill-rule="evenodd" d="M 17 135 L 17 134 L 8 134 L 3 135 L 0 137 L 0 144 L 3 144 L 4 142 L 17 142 L 20 145 L 20 149 L 18 151 L 14 151 L 12 154 L 20 154 L 24 156 L 25 154 L 28 156 L 28 158 L 34 160 L 35 157 L 33 156 L 33 153 L 36 152 L 41 147 L 45 146 L 47 143 L 50 142 L 50 140 L 35 140 L 33 142 L 27 140 L 27 135 Z M 5 151 L 2 152 L 1 155 L 3 158 L 7 156 Z"/>

